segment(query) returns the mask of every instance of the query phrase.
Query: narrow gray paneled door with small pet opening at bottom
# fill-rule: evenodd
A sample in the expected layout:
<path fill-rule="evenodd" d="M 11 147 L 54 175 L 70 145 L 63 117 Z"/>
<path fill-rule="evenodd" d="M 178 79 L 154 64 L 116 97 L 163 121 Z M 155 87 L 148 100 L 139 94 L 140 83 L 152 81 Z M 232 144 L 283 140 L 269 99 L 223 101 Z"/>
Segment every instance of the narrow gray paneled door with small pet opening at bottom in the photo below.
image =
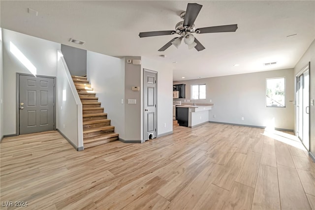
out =
<path fill-rule="evenodd" d="M 144 70 L 143 78 L 143 139 L 146 141 L 157 137 L 157 72 Z"/>

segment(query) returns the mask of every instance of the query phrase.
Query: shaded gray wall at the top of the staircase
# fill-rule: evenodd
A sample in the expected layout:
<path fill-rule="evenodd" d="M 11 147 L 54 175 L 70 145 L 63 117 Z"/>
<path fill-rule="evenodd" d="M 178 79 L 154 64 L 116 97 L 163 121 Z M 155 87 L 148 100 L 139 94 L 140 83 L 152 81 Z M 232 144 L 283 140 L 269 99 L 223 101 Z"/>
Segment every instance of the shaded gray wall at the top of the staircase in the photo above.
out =
<path fill-rule="evenodd" d="M 84 76 L 87 74 L 87 51 L 67 45 L 61 45 L 63 58 L 67 63 L 70 74 Z"/>

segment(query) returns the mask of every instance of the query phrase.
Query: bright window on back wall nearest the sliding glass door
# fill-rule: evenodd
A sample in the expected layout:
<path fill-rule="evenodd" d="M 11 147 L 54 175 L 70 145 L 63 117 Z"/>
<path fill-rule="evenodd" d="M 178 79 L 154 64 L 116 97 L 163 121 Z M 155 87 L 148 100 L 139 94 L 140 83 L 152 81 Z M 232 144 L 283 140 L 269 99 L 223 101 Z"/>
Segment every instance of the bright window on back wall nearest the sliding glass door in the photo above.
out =
<path fill-rule="evenodd" d="M 285 78 L 266 79 L 267 107 L 285 107 Z"/>

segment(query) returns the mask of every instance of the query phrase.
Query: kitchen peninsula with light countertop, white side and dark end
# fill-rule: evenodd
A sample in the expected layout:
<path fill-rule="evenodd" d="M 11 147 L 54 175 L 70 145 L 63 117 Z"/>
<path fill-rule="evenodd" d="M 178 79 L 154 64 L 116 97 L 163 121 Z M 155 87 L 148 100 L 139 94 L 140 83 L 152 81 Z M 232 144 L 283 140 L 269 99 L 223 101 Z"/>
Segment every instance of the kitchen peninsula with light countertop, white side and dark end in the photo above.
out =
<path fill-rule="evenodd" d="M 176 120 L 180 126 L 195 127 L 209 121 L 209 110 L 213 105 L 176 106 Z"/>

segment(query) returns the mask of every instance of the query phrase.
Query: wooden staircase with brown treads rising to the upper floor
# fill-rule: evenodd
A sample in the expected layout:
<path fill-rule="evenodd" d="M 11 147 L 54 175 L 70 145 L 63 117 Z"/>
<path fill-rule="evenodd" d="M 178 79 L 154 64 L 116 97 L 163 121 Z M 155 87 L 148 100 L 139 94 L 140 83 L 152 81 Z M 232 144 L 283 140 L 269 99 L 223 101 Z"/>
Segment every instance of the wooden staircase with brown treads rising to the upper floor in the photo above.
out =
<path fill-rule="evenodd" d="M 115 127 L 110 125 L 110 120 L 107 119 L 104 108 L 100 107 L 87 77 L 72 76 L 72 80 L 82 102 L 84 148 L 118 140 L 119 134 L 114 133 Z"/>

